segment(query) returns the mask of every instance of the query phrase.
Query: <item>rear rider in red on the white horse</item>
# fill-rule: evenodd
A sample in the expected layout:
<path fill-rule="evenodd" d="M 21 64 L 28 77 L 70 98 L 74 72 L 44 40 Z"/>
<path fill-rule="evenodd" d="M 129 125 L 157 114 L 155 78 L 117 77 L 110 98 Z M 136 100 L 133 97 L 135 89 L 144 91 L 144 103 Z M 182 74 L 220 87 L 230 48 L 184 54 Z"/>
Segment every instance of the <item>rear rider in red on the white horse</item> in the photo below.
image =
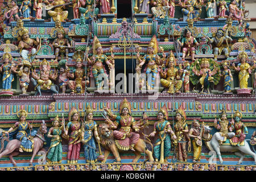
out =
<path fill-rule="evenodd" d="M 234 137 L 229 139 L 229 142 L 232 144 L 232 146 L 240 146 L 248 134 L 248 129 L 245 126 L 245 123 L 241 122 L 242 116 L 243 115 L 240 111 L 236 111 L 234 114 L 235 119 L 232 119 L 230 131 L 234 131 L 236 134 Z"/>

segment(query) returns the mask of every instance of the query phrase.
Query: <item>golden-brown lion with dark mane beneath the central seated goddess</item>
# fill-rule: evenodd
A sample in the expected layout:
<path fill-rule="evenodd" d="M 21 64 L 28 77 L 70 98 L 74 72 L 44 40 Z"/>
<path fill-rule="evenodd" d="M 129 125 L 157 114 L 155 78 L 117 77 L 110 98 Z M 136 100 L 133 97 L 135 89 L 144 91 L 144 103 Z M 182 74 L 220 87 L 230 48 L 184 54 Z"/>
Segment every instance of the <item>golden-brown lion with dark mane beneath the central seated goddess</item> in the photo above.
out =
<path fill-rule="evenodd" d="M 118 150 L 117 146 L 115 146 L 115 139 L 113 136 L 113 130 L 110 129 L 109 125 L 104 123 L 102 125 L 99 126 L 98 128 L 98 136 L 100 137 L 100 144 L 102 147 L 104 147 L 105 151 L 104 151 L 104 160 L 102 160 L 102 163 L 106 162 L 106 159 L 109 156 L 110 151 L 113 153 L 115 160 L 117 162 L 121 162 L 121 158 L 119 155 L 119 152 L 123 152 Z M 154 162 L 154 158 L 152 156 L 152 152 L 150 150 L 147 149 L 145 142 L 148 142 L 147 140 L 143 140 L 143 139 L 139 139 L 138 142 L 135 144 L 134 149 L 135 149 L 135 158 L 133 159 L 133 162 L 136 163 L 138 161 L 139 158 L 141 158 L 141 153 L 145 152 L 148 156 L 148 160 L 150 162 Z M 152 143 L 151 147 L 152 146 Z"/>

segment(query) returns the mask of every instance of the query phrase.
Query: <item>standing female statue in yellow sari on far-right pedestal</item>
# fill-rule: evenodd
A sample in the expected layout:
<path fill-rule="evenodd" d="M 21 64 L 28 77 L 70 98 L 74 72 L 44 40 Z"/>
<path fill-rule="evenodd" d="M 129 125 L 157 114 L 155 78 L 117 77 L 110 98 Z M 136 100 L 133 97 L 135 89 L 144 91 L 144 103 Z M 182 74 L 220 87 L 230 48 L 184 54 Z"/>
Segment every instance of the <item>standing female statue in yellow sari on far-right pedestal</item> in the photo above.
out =
<path fill-rule="evenodd" d="M 239 87 L 240 89 L 247 89 L 248 88 L 248 78 L 251 74 L 251 67 L 248 63 L 246 63 L 246 60 L 248 59 L 248 55 L 245 51 L 242 51 L 238 56 L 238 60 L 240 63 L 235 66 L 233 63 L 232 66 L 234 67 L 234 70 L 239 72 L 238 78 L 239 78 Z"/>

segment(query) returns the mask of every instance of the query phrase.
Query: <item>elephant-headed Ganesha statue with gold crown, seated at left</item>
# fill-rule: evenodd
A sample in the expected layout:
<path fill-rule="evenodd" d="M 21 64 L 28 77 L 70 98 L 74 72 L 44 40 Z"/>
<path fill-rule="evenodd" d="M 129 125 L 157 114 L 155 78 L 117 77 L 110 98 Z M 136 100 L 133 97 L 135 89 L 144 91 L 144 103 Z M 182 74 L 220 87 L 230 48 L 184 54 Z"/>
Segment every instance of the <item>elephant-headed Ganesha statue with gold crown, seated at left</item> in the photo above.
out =
<path fill-rule="evenodd" d="M 46 92 L 59 93 L 59 88 L 53 83 L 53 81 L 57 78 L 57 71 L 55 70 L 55 72 L 52 73 L 49 61 L 44 59 L 40 63 L 39 69 L 40 71 L 38 73 L 36 73 L 36 69 L 34 69 L 31 78 L 36 90 L 35 96 L 37 94 L 42 96 L 42 90 Z"/>

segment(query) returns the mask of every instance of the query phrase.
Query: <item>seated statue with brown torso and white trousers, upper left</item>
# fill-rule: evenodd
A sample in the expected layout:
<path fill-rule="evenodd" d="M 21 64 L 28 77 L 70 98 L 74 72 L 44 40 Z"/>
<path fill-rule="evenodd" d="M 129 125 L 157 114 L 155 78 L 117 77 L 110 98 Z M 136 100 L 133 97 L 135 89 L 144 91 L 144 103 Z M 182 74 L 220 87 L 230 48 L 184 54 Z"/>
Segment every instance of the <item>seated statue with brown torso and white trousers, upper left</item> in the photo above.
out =
<path fill-rule="evenodd" d="M 36 37 L 36 40 L 31 39 L 26 28 L 23 28 L 20 31 L 20 36 L 22 37 L 22 40 L 19 41 L 18 45 L 20 55 L 22 56 L 22 59 L 31 62 L 35 59 L 36 48 L 34 48 L 34 46 L 38 46 L 40 43 L 39 38 Z"/>

